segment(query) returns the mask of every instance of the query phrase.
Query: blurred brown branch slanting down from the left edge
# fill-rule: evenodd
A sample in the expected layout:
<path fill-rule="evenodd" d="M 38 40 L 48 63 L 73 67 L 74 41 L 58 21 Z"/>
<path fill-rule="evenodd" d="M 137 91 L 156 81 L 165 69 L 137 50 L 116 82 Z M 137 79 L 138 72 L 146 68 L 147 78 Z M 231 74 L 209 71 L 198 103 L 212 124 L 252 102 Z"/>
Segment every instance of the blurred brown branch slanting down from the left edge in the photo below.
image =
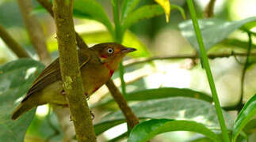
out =
<path fill-rule="evenodd" d="M 17 43 L 12 36 L 10 36 L 10 34 L 6 31 L 5 28 L 2 27 L 1 24 L 0 24 L 0 37 L 6 43 L 6 45 L 10 48 L 10 50 L 13 50 L 14 54 L 16 54 L 18 58 L 30 58 L 26 50 L 23 47 L 21 47 L 21 45 Z"/>

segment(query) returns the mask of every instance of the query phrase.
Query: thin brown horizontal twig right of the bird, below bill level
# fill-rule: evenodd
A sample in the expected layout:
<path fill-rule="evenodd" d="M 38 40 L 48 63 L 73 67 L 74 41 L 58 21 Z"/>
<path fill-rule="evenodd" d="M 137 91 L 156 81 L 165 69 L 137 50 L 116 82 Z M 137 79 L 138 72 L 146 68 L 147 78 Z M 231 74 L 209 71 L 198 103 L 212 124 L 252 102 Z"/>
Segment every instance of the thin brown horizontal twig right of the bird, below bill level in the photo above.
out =
<path fill-rule="evenodd" d="M 227 53 L 227 54 L 208 54 L 208 58 L 214 59 L 214 58 L 228 58 L 231 56 L 246 56 L 247 53 Z M 256 56 L 256 53 L 250 53 L 250 56 Z M 124 61 L 124 66 L 132 66 L 137 64 L 142 64 L 145 62 L 151 62 L 155 60 L 171 60 L 171 59 L 184 59 L 184 58 L 191 58 L 195 59 L 198 58 L 197 54 L 181 54 L 181 55 L 173 55 L 173 56 L 155 56 L 151 58 L 135 58 L 130 59 L 127 61 Z"/>

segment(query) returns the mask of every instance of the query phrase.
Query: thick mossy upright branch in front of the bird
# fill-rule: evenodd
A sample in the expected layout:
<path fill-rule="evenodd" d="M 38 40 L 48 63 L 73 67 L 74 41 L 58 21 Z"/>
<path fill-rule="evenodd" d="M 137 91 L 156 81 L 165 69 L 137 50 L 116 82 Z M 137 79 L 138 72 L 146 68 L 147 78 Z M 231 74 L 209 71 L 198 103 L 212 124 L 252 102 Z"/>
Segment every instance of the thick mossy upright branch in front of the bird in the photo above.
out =
<path fill-rule="evenodd" d="M 86 97 L 83 94 L 82 78 L 78 68 L 78 50 L 76 50 L 72 18 L 73 4 L 74 0 L 53 1 L 60 70 L 78 142 L 95 142 L 94 126 Z"/>

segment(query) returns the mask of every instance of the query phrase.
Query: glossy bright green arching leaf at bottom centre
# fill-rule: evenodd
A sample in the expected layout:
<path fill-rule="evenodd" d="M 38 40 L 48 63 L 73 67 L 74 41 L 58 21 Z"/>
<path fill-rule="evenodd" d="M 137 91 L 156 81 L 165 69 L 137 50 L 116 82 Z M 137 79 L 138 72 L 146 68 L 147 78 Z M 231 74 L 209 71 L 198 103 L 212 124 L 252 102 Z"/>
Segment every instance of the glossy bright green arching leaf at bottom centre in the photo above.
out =
<path fill-rule="evenodd" d="M 172 131 L 191 131 L 208 136 L 214 141 L 221 141 L 220 137 L 204 125 L 195 121 L 176 121 L 171 119 L 152 119 L 136 125 L 128 137 L 128 142 L 146 142 L 160 133 Z"/>

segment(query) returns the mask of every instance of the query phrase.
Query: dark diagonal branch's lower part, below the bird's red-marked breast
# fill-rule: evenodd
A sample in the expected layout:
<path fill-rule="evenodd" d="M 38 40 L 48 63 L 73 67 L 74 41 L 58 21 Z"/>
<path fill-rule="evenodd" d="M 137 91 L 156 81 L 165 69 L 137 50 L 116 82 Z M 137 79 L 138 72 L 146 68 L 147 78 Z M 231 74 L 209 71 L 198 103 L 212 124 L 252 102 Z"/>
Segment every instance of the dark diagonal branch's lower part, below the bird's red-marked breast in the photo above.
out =
<path fill-rule="evenodd" d="M 139 124 L 139 119 L 132 112 L 132 109 L 128 107 L 128 104 L 124 99 L 124 96 L 113 83 L 113 80 L 108 80 L 106 82 L 106 86 L 109 88 L 109 92 L 111 92 L 113 99 L 118 103 L 118 106 L 120 107 L 120 110 L 123 112 L 129 127 L 133 128 L 134 126 Z"/>

